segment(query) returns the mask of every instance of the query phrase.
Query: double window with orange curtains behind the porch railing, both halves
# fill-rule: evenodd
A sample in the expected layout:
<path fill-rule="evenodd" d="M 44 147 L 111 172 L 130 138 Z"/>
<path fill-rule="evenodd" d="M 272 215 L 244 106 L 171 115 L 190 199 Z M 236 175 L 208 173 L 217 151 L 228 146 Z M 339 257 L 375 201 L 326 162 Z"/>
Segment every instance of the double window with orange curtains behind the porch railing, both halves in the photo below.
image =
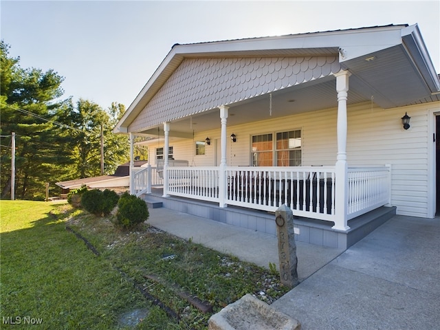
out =
<path fill-rule="evenodd" d="M 276 135 L 275 143 L 273 135 Z M 301 146 L 299 129 L 276 134 L 253 135 L 252 166 L 301 166 Z"/>

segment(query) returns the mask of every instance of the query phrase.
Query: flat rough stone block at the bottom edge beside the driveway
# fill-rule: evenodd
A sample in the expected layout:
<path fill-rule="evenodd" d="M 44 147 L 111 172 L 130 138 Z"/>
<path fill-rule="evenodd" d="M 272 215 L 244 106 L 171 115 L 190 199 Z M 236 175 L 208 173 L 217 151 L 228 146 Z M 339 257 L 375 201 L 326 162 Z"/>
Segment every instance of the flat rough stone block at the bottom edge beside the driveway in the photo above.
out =
<path fill-rule="evenodd" d="M 208 320 L 209 330 L 300 330 L 298 320 L 246 294 Z"/>

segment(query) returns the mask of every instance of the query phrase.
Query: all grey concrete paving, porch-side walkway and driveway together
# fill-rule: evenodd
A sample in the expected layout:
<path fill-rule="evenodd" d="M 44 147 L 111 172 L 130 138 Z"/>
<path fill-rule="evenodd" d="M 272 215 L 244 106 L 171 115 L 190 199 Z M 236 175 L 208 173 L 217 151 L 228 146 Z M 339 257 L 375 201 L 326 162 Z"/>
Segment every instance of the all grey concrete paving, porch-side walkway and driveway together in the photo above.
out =
<path fill-rule="evenodd" d="M 268 267 L 276 236 L 151 208 L 148 223 Z M 440 219 L 395 216 L 342 252 L 297 242 L 300 284 L 272 307 L 303 330 L 440 329 Z"/>

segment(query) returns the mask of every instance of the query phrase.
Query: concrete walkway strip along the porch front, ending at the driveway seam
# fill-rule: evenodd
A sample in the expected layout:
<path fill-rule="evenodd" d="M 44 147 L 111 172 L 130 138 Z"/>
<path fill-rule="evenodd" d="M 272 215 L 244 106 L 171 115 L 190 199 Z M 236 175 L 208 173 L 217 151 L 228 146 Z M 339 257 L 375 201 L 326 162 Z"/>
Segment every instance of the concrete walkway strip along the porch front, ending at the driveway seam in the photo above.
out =
<path fill-rule="evenodd" d="M 276 236 L 228 225 L 167 208 L 150 208 L 148 223 L 182 239 L 232 254 L 243 261 L 269 268 L 279 265 Z M 298 279 L 303 281 L 335 259 L 342 250 L 296 242 Z"/>

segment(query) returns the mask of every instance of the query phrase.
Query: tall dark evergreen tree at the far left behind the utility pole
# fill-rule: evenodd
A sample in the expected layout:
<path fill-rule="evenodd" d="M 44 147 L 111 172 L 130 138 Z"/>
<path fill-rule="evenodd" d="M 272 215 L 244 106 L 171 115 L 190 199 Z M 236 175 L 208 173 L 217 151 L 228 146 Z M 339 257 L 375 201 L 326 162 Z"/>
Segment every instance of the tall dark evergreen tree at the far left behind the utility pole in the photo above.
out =
<path fill-rule="evenodd" d="M 1 41 L 1 135 L 15 132 L 16 193 L 25 199 L 43 198 L 44 183 L 56 173 L 63 173 L 61 164 L 69 162 L 65 148 L 67 133 L 56 124 L 67 109 L 61 83 L 64 78 L 50 69 L 23 69 L 19 58 L 9 56 L 10 46 Z M 10 138 L 2 139 L 10 146 Z M 10 148 L 1 148 L 1 197 L 10 192 Z"/>

